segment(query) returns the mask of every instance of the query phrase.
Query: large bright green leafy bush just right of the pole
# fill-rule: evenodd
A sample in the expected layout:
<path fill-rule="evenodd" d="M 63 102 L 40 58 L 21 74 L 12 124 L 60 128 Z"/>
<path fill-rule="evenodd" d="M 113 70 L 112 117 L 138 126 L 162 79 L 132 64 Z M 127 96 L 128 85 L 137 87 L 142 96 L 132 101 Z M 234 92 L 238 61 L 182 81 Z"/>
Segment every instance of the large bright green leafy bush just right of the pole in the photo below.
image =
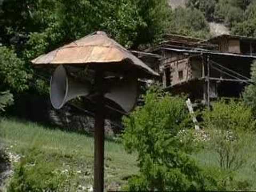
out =
<path fill-rule="evenodd" d="M 127 151 L 138 153 L 140 174 L 129 180 L 126 190 L 203 190 L 204 175 L 191 159 L 196 146 L 180 135 L 189 132 L 185 98 L 148 91 L 145 106 L 124 118 L 123 142 Z M 193 146 L 193 147 L 192 147 Z M 210 181 L 209 181 L 210 182 Z"/>

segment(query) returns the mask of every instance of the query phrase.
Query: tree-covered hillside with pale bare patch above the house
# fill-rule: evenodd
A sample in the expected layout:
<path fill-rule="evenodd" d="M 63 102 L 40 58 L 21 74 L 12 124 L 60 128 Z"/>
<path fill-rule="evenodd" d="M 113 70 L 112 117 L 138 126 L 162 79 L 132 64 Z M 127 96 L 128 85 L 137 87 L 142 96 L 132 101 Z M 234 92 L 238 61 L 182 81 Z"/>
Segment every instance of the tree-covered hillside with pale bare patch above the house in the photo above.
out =
<path fill-rule="evenodd" d="M 209 23 L 209 34 L 212 36 L 221 34 L 234 34 L 250 37 L 256 36 L 255 0 L 170 0 L 169 5 L 173 9 L 179 6 L 186 8 L 187 6 L 194 12 L 194 14 L 204 15 L 205 20 Z M 186 10 L 185 13 L 187 14 L 187 12 L 189 11 Z M 183 15 L 179 15 L 179 17 L 183 17 Z M 193 15 L 191 15 L 191 18 L 193 18 Z M 190 17 L 188 17 L 188 20 L 190 20 Z M 195 30 L 197 30 L 196 26 L 198 26 L 198 23 L 193 23 L 193 20 L 190 22 L 191 25 L 195 26 Z M 188 35 L 195 34 L 193 31 L 187 33 Z"/>

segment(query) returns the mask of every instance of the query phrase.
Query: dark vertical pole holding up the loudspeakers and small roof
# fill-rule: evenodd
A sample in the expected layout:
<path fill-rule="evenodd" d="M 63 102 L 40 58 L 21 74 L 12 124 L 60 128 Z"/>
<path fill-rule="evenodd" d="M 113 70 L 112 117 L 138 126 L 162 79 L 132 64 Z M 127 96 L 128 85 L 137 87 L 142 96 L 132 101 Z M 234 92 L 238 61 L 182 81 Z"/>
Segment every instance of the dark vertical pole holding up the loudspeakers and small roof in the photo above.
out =
<path fill-rule="evenodd" d="M 96 102 L 94 123 L 94 191 L 103 192 L 104 189 L 104 102 L 103 102 L 103 72 L 95 74 L 95 84 L 100 93 Z"/>

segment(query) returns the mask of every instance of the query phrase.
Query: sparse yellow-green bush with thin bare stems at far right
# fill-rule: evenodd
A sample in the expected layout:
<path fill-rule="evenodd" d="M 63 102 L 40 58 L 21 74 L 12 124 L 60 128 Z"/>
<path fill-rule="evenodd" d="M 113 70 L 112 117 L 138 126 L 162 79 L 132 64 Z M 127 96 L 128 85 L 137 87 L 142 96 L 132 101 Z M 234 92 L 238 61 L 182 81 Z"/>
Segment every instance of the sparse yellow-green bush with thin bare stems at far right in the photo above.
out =
<path fill-rule="evenodd" d="M 235 180 L 237 171 L 241 169 L 249 157 L 247 148 L 254 139 L 255 121 L 251 108 L 243 102 L 225 102 L 213 104 L 213 110 L 203 113 L 204 126 L 210 134 L 207 149 L 216 154 L 219 167 L 212 176 L 220 190 L 246 190 L 250 181 Z"/>

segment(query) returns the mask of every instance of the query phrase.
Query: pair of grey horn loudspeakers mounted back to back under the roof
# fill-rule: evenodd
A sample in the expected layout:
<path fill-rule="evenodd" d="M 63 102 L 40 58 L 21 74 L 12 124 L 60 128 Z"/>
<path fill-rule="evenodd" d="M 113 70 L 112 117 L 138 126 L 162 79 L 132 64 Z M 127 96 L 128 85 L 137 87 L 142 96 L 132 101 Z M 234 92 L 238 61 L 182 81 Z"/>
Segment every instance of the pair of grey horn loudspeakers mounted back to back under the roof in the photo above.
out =
<path fill-rule="evenodd" d="M 131 111 L 137 101 L 138 82 L 137 79 L 127 76 L 117 81 L 105 79 L 106 92 L 104 97 L 117 103 L 124 111 Z M 55 109 L 60 109 L 71 99 L 79 96 L 89 97 L 93 88 L 89 82 L 78 82 L 67 75 L 65 67 L 60 65 L 55 69 L 50 83 L 50 99 Z M 95 89 L 96 88 L 96 89 Z"/>

